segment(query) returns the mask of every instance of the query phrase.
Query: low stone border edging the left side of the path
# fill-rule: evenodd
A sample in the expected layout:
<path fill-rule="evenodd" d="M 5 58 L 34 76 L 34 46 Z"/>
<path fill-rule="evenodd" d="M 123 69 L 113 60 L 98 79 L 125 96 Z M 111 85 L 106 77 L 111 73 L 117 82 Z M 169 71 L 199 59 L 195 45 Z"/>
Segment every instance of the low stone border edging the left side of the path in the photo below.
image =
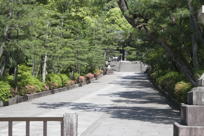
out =
<path fill-rule="evenodd" d="M 57 89 L 43 91 L 43 92 L 34 93 L 34 94 L 26 94 L 25 96 L 17 95 L 17 96 L 15 96 L 13 98 L 10 98 L 8 100 L 8 102 L 0 101 L 0 107 L 14 105 L 14 104 L 17 104 L 17 103 L 26 102 L 26 101 L 29 101 L 29 100 L 32 100 L 32 99 L 43 97 L 43 96 L 48 96 L 48 95 L 52 95 L 52 94 L 55 94 L 55 93 L 65 92 L 65 91 L 68 91 L 68 90 L 71 90 L 71 89 L 82 87 L 84 85 L 92 83 L 95 80 L 100 79 L 102 76 L 103 76 L 103 74 L 99 75 L 97 78 L 91 79 L 89 82 L 74 84 L 74 85 L 68 86 L 68 87 L 57 88 Z"/>

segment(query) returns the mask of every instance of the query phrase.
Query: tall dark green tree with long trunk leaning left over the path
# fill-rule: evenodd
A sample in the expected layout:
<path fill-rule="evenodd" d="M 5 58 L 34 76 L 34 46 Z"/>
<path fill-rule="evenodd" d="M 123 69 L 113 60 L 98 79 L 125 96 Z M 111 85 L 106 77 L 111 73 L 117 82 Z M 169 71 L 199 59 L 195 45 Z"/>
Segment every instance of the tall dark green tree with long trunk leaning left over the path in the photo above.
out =
<path fill-rule="evenodd" d="M 197 85 L 193 68 L 184 55 L 179 54 L 186 30 L 184 25 L 189 17 L 189 10 L 184 1 L 143 1 L 143 0 L 118 0 L 120 9 L 127 21 L 137 30 L 144 33 L 149 40 L 161 45 L 166 54 L 172 59 L 178 70 L 193 84 Z M 176 6 L 175 6 L 176 5 Z M 176 28 L 176 29 L 175 29 Z M 176 33 L 180 35 L 176 35 Z M 183 34 L 183 35 L 182 35 Z M 183 41 L 175 41 L 175 39 Z M 179 45 L 180 44 L 180 45 Z M 177 47 L 175 46 L 177 45 Z M 187 51 L 187 50 L 186 50 Z M 195 56 L 195 53 L 194 53 Z"/>

